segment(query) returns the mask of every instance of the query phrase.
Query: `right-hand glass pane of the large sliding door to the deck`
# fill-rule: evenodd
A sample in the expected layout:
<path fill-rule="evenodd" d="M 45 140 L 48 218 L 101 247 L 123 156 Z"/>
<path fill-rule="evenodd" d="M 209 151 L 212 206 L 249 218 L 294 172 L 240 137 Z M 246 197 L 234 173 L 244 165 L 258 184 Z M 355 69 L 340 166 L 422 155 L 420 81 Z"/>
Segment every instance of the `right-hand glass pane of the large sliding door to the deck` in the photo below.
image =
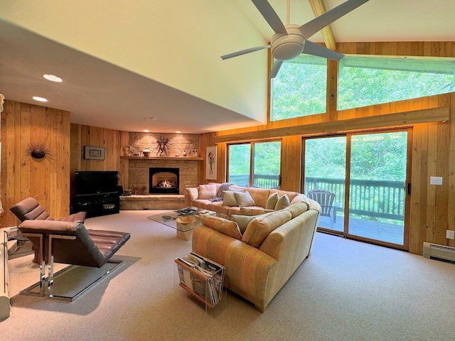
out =
<path fill-rule="evenodd" d="M 348 234 L 404 244 L 407 131 L 354 135 Z"/>

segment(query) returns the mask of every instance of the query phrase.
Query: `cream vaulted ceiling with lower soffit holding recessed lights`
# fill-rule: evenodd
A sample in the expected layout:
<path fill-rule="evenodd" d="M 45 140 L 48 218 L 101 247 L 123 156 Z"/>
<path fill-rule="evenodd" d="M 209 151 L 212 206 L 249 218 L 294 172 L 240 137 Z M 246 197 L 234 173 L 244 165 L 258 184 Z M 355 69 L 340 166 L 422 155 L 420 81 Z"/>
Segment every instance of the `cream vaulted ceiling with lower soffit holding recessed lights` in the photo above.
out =
<path fill-rule="evenodd" d="M 287 1 L 269 2 L 286 23 Z M 342 2 L 326 0 L 326 9 Z M 272 36 L 249 0 L 0 0 L 0 8 L 6 99 L 45 97 L 73 123 L 122 131 L 202 133 L 267 122 L 267 50 L 220 59 Z M 332 28 L 338 42 L 453 41 L 454 10 L 453 0 L 370 0 Z M 311 18 L 307 0 L 291 0 L 291 23 Z M 309 40 L 323 42 L 320 33 Z"/>

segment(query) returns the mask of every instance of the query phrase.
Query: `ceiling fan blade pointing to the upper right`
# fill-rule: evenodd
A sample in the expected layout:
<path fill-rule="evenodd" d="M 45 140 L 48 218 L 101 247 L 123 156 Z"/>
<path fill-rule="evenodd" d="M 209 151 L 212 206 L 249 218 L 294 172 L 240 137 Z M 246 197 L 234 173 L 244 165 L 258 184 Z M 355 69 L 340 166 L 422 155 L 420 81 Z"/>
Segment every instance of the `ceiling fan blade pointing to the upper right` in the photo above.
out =
<path fill-rule="evenodd" d="M 304 38 L 308 39 L 313 36 L 314 33 L 321 31 L 324 27 L 333 23 L 333 21 L 336 21 L 350 11 L 353 11 L 358 6 L 365 4 L 367 1 L 369 0 L 348 0 L 343 4 L 336 6 L 334 9 L 321 14 L 321 16 L 314 18 L 308 23 L 304 23 L 304 25 L 299 27 L 299 30 Z"/>

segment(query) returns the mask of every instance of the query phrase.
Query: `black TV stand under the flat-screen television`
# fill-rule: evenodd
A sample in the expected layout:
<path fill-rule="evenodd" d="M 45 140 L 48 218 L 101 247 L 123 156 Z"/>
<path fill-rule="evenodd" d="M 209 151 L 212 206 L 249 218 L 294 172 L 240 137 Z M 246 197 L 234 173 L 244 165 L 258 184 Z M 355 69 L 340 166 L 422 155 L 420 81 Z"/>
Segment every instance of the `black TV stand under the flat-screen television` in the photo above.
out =
<path fill-rule="evenodd" d="M 119 192 L 75 195 L 73 200 L 73 212 L 80 211 L 87 212 L 87 218 L 119 213 Z"/>

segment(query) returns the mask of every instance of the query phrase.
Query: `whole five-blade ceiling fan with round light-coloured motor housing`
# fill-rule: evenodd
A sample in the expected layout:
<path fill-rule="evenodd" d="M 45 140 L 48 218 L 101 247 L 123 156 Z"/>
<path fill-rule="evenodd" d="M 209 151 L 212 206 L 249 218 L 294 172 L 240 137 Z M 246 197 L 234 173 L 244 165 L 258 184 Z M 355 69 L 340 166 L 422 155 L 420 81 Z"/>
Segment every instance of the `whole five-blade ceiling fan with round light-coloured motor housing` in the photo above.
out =
<path fill-rule="evenodd" d="M 289 24 L 289 1 L 290 0 L 287 1 L 288 24 L 284 26 L 267 0 L 252 0 L 252 3 L 255 4 L 256 8 L 275 32 L 272 36 L 271 44 L 267 46 L 257 46 L 256 48 L 247 48 L 246 50 L 222 55 L 221 59 L 225 60 L 263 50 L 264 48 L 271 48 L 275 61 L 272 70 L 270 71 L 270 78 L 277 76 L 279 67 L 282 66 L 284 60 L 294 59 L 301 53 L 318 55 L 319 57 L 331 60 L 340 60 L 344 57 L 341 53 L 311 43 L 311 41 L 307 39 L 313 36 L 314 33 L 321 31 L 321 29 L 333 23 L 333 21 L 336 21 L 369 0 L 348 0 L 302 26 Z"/>

